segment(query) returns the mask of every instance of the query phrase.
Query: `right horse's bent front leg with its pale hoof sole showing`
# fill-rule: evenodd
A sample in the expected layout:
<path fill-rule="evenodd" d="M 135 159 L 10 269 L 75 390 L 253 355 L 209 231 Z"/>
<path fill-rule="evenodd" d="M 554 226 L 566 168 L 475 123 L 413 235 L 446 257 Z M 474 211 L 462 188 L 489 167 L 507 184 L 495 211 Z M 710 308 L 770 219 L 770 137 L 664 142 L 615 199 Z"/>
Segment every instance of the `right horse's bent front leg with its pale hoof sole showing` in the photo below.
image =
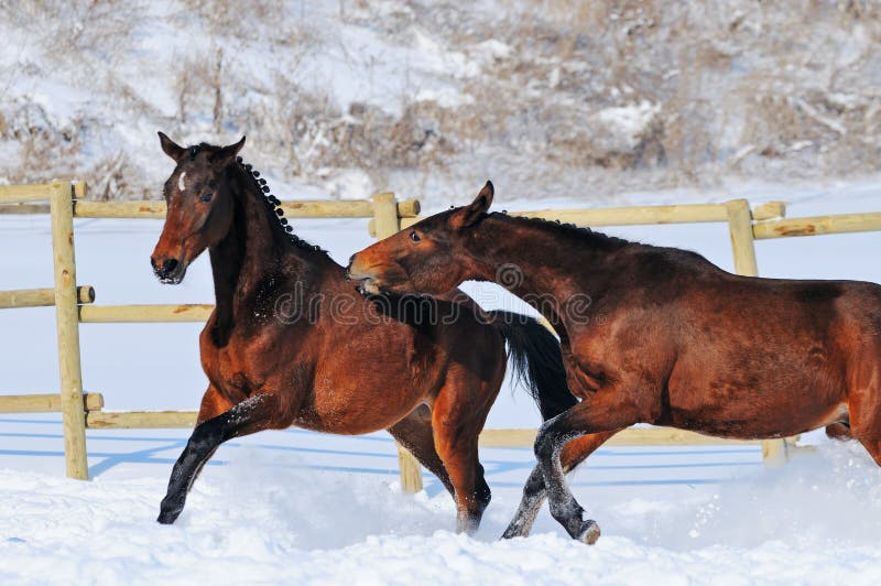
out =
<path fill-rule="evenodd" d="M 588 544 L 599 539 L 599 525 L 585 520 L 585 510 L 575 500 L 566 486 L 559 454 L 567 442 L 588 434 L 617 432 L 639 423 L 634 395 L 617 388 L 605 388 L 573 406 L 568 411 L 546 421 L 535 438 L 535 457 L 544 477 L 551 516 L 576 540 Z"/>

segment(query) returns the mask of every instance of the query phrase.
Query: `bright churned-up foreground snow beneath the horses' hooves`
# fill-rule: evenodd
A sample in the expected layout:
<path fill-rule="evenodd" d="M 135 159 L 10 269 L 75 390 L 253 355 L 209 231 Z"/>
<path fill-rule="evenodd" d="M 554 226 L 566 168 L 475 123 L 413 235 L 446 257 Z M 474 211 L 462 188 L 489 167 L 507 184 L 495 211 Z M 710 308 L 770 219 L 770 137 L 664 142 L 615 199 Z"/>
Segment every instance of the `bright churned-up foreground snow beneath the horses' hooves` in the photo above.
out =
<path fill-rule="evenodd" d="M 264 440 L 265 442 L 265 440 Z M 302 445 L 302 444 L 301 444 Z M 449 531 L 445 495 L 405 497 L 388 479 L 285 466 L 296 453 L 239 452 L 197 484 L 177 524 L 153 522 L 160 475 L 91 482 L 3 470 L 0 579 L 10 583 L 878 584 L 881 475 L 836 448 L 726 484 L 612 489 L 575 482 L 601 519 L 596 546 L 543 518 L 497 541 L 501 492 L 476 538 Z M 524 455 L 525 456 L 525 455 Z M 222 456 L 221 456 L 222 457 Z M 489 455 L 492 458 L 492 455 Z M 225 459 L 225 458 L 224 458 Z M 598 460 L 606 458 L 599 457 Z M 623 459 L 623 458 L 622 458 Z M 643 477 L 650 477 L 643 470 Z M 577 478 L 603 476 L 581 471 Z M 490 478 L 496 488 L 497 482 Z"/>

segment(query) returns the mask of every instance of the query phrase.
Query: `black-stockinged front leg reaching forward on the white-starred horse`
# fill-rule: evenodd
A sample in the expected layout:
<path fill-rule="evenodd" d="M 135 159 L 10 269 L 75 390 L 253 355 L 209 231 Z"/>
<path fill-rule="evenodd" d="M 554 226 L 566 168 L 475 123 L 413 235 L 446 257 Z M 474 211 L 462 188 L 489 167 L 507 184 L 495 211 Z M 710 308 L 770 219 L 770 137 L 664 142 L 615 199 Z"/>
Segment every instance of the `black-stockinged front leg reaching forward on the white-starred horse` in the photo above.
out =
<path fill-rule="evenodd" d="M 274 427 L 279 401 L 273 393 L 249 397 L 228 411 L 199 423 L 177 458 L 156 521 L 173 523 L 184 510 L 186 495 L 208 458 L 228 440 Z"/>

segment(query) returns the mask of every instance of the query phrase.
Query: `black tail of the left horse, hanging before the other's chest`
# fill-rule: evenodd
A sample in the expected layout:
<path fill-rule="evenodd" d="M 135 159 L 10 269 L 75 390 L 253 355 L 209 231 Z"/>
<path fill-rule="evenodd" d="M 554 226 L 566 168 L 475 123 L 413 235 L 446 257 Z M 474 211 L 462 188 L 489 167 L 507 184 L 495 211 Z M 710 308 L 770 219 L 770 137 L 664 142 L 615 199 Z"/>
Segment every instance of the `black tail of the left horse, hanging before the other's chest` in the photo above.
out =
<path fill-rule="evenodd" d="M 512 312 L 487 312 L 508 343 L 514 376 L 526 386 L 544 421 L 575 405 L 557 338 L 537 319 Z"/>

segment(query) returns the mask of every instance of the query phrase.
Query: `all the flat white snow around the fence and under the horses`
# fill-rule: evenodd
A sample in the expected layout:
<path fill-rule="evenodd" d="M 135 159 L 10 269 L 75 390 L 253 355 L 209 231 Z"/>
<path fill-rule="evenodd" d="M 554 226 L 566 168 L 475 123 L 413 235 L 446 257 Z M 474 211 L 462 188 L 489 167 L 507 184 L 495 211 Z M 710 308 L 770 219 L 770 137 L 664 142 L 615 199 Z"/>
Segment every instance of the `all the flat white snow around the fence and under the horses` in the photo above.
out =
<path fill-rule="evenodd" d="M 572 207 L 565 198 L 497 207 Z M 791 202 L 788 216 L 881 209 L 871 181 L 814 192 L 741 186 L 654 193 L 624 203 Z M 457 204 L 468 198 L 463 194 Z M 442 206 L 443 203 L 437 203 Z M 584 204 L 581 204 L 584 205 Z M 162 286 L 148 257 L 162 223 L 78 220 L 78 281 L 98 302 L 210 302 L 206 259 Z M 366 221 L 298 220 L 297 232 L 342 260 L 370 241 Z M 608 230 L 698 250 L 730 269 L 725 225 Z M 881 235 L 758 243 L 763 275 L 881 281 Z M 0 216 L 0 289 L 51 286 L 48 220 Z M 511 304 L 469 286 L 485 305 Z M 84 382 L 108 410 L 187 409 L 205 379 L 199 326 L 87 324 Z M 51 308 L 0 312 L 0 392 L 57 389 Z M 503 389 L 489 427 L 537 424 L 519 390 Z M 815 454 L 765 469 L 753 447 L 600 449 L 570 484 L 597 519 L 595 546 L 570 541 L 545 510 L 533 535 L 498 541 L 533 465 L 530 449 L 485 449 L 493 501 L 475 536 L 457 535 L 454 507 L 426 474 L 403 495 L 384 433 L 261 433 L 222 446 L 176 524 L 155 523 L 186 431 L 89 431 L 87 482 L 64 477 L 56 415 L 0 415 L 0 583 L 3 584 L 881 584 L 881 470 L 858 444 L 812 434 Z"/>

